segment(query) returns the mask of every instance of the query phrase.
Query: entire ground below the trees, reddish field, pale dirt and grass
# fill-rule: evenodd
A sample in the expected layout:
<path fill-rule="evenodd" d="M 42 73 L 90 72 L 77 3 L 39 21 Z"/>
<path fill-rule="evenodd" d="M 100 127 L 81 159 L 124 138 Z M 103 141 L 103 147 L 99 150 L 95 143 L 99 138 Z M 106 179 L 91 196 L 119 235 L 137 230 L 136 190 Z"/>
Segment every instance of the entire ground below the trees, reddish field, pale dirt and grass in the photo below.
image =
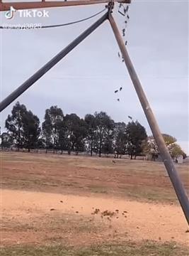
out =
<path fill-rule="evenodd" d="M 188 165 L 177 165 L 189 188 Z M 188 255 L 164 165 L 1 153 L 1 255 Z"/>

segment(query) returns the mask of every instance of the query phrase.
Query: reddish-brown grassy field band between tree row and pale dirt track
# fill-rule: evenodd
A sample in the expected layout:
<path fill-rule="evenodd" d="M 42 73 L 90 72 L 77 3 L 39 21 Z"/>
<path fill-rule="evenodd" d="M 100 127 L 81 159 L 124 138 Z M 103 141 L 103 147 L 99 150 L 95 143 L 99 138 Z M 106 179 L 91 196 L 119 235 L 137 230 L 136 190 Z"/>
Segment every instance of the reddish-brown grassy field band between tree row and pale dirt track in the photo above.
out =
<path fill-rule="evenodd" d="M 4 188 L 50 193 L 103 194 L 176 203 L 164 165 L 151 161 L 38 154 L 1 154 Z M 189 189 L 188 165 L 178 165 Z"/>

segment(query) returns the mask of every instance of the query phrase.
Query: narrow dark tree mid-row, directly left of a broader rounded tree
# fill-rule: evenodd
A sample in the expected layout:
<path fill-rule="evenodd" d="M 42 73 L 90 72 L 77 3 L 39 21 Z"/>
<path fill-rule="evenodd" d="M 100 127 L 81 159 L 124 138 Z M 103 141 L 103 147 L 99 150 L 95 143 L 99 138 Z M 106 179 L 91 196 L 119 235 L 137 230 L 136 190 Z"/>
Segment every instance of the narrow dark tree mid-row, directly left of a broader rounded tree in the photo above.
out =
<path fill-rule="evenodd" d="M 89 145 L 91 156 L 93 155 L 94 143 L 96 139 L 96 117 L 93 114 L 86 114 L 85 116 L 87 135 L 86 142 Z"/>

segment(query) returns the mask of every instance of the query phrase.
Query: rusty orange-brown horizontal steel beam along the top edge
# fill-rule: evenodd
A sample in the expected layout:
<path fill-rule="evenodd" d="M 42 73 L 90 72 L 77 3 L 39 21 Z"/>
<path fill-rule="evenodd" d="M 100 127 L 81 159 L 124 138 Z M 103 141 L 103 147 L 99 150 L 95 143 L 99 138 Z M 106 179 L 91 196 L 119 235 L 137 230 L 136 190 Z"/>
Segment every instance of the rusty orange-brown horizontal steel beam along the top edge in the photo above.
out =
<path fill-rule="evenodd" d="M 111 0 L 77 0 L 77 1 L 30 1 L 30 2 L 1 2 L 0 11 L 8 11 L 11 6 L 16 10 L 22 9 L 38 9 L 38 8 L 52 8 L 52 7 L 64 7 L 64 6 L 81 6 L 89 4 L 108 4 Z M 113 0 L 122 4 L 130 4 L 131 0 Z"/>

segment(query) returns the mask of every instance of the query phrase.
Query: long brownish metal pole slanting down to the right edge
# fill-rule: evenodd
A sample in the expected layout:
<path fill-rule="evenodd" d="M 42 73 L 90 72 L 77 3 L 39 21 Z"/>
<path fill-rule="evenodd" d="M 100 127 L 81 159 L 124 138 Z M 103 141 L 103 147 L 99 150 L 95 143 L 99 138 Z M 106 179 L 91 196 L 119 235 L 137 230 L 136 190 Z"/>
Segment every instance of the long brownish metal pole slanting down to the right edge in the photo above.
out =
<path fill-rule="evenodd" d="M 178 172 L 173 164 L 171 156 L 168 152 L 166 144 L 164 142 L 164 138 L 160 132 L 159 126 L 156 122 L 154 114 L 151 110 L 147 97 L 142 89 L 142 85 L 137 77 L 137 73 L 134 70 L 134 66 L 132 65 L 132 61 L 130 60 L 130 56 L 127 53 L 127 49 L 125 48 L 125 43 L 122 41 L 122 37 L 120 35 L 119 29 L 112 14 L 109 14 L 110 25 L 113 28 L 113 32 L 115 34 L 115 38 L 118 42 L 118 46 L 120 47 L 120 51 L 122 53 L 122 57 L 125 60 L 125 65 L 127 66 L 127 70 L 130 73 L 130 78 L 133 82 L 134 88 L 139 97 L 139 101 L 142 105 L 144 113 L 149 122 L 149 126 L 151 127 L 151 132 L 154 135 L 154 139 L 156 140 L 156 144 L 159 147 L 159 152 L 161 154 L 161 158 L 164 161 L 164 165 L 166 166 L 166 170 L 168 172 L 168 176 L 171 179 L 173 184 L 173 188 L 176 191 L 176 195 L 178 197 L 178 201 L 181 203 L 181 207 L 183 208 L 183 213 L 185 214 L 185 218 L 189 224 L 189 201 L 188 197 L 185 193 L 185 188 L 183 187 L 183 183 L 181 182 L 181 178 L 178 176 Z"/>

